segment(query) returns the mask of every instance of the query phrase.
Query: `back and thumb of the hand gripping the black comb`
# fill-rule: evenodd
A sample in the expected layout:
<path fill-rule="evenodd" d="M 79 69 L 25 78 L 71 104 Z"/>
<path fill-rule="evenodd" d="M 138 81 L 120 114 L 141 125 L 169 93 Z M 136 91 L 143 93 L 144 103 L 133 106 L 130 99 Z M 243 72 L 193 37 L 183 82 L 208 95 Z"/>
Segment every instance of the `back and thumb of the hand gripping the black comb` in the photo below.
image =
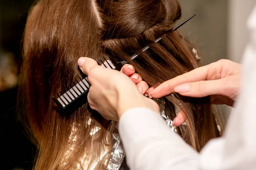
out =
<path fill-rule="evenodd" d="M 91 84 L 88 103 L 105 119 L 119 120 L 125 111 L 137 107 L 149 108 L 159 113 L 157 103 L 142 95 L 134 82 L 122 73 L 126 68 L 122 72 L 103 68 L 87 57 L 81 57 L 78 64 L 81 71 L 88 75 Z"/>

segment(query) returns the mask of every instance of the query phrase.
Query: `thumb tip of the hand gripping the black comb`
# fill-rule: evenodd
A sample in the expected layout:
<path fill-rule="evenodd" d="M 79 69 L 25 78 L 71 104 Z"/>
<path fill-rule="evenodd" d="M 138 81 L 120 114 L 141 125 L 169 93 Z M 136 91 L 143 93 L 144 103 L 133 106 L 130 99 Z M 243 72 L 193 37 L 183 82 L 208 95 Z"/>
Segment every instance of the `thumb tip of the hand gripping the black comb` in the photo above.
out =
<path fill-rule="evenodd" d="M 99 66 L 98 63 L 94 59 L 91 59 L 88 57 L 80 57 L 78 59 L 77 63 L 79 65 L 79 68 L 81 69 L 81 71 L 86 75 L 88 75 L 89 71 L 92 68 Z"/>

